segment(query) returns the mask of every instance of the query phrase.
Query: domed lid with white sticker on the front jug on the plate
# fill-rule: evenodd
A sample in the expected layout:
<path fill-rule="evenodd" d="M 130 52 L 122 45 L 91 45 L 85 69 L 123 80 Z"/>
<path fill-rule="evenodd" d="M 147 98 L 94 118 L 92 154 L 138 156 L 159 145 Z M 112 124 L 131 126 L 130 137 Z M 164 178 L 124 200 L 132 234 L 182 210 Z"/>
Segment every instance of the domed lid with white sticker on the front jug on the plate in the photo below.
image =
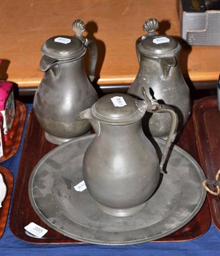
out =
<path fill-rule="evenodd" d="M 136 100 L 125 93 L 111 93 L 98 99 L 91 108 L 92 115 L 107 124 L 132 124 L 140 120 L 144 113 L 136 105 Z"/>

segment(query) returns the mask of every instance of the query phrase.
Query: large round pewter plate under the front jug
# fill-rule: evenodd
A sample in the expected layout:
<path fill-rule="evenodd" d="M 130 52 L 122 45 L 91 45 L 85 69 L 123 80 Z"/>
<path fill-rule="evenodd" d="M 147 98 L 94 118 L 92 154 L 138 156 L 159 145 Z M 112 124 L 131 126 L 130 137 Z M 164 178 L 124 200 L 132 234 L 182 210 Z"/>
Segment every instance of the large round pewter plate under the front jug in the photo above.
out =
<path fill-rule="evenodd" d="M 205 175 L 193 157 L 177 146 L 170 152 L 167 173 L 143 211 L 129 217 L 102 212 L 87 189 L 74 189 L 83 180 L 83 157 L 93 138 L 91 134 L 60 145 L 31 174 L 31 204 L 49 227 L 86 243 L 138 244 L 168 236 L 198 213 L 206 196 L 201 184 Z M 155 143 L 158 151 L 164 147 L 163 140 L 155 139 Z"/>

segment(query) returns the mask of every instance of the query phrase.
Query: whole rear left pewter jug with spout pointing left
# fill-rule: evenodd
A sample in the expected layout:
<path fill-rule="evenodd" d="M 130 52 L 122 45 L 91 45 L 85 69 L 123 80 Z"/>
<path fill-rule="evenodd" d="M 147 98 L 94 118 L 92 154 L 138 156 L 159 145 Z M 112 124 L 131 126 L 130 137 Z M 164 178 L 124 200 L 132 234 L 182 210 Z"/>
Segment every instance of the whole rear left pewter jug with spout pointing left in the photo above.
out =
<path fill-rule="evenodd" d="M 43 44 L 40 69 L 45 73 L 33 102 L 45 138 L 58 145 L 90 131 L 90 123 L 78 120 L 77 115 L 98 99 L 90 82 L 95 78 L 97 45 L 83 36 L 82 20 L 75 20 L 72 29 L 75 36 L 54 36 Z M 90 47 L 90 81 L 83 60 L 87 46 Z"/>

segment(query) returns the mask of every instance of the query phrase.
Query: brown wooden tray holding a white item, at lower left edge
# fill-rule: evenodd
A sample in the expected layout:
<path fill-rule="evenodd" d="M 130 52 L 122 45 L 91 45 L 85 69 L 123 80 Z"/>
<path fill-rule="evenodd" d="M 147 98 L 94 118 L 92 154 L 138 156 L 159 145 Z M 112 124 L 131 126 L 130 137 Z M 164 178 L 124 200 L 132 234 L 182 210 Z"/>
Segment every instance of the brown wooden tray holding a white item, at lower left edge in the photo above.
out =
<path fill-rule="evenodd" d="M 7 168 L 0 166 L 0 173 L 3 175 L 4 183 L 7 187 L 6 198 L 4 198 L 3 206 L 0 208 L 0 238 L 4 233 L 4 228 L 8 218 L 8 209 L 10 205 L 10 200 L 12 196 L 13 188 L 13 175 Z"/>

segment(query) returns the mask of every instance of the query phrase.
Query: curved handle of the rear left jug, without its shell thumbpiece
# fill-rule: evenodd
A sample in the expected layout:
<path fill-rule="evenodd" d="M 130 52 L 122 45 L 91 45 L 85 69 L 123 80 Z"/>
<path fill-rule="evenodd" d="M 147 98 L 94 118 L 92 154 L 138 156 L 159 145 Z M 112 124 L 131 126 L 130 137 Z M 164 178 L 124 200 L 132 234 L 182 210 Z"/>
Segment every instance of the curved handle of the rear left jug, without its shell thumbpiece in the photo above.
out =
<path fill-rule="evenodd" d="M 90 81 L 93 82 L 95 79 L 95 68 L 97 66 L 98 60 L 98 47 L 95 41 L 91 40 L 90 38 L 86 38 L 86 42 L 84 43 L 86 47 L 90 47 L 90 60 L 89 60 L 89 77 Z"/>

